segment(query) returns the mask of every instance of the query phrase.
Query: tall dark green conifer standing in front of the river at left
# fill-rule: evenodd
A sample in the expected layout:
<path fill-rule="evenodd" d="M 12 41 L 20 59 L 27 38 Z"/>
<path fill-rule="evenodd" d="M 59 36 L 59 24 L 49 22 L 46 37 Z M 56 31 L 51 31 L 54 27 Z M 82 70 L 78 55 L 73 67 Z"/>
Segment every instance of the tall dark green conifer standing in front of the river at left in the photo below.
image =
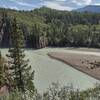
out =
<path fill-rule="evenodd" d="M 16 19 L 12 21 L 12 33 L 11 33 L 12 48 L 9 49 L 9 66 L 12 74 L 13 85 L 15 89 L 20 92 L 27 90 L 33 92 L 33 76 L 34 71 L 31 72 L 31 66 L 28 66 L 28 61 L 25 60 L 24 54 L 24 35 L 21 32 Z"/>

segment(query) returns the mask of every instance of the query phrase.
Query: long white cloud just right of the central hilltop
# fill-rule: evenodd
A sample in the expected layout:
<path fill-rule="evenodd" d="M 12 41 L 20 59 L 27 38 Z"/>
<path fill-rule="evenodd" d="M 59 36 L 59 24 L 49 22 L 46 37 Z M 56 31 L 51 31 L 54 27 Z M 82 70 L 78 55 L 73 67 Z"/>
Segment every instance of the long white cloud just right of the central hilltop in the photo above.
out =
<path fill-rule="evenodd" d="M 61 0 L 59 0 L 59 1 L 61 1 Z M 45 5 L 46 7 L 50 7 L 50 8 L 58 9 L 58 10 L 69 10 L 69 11 L 72 10 L 71 7 L 62 6 L 57 2 L 45 1 L 43 5 Z"/>

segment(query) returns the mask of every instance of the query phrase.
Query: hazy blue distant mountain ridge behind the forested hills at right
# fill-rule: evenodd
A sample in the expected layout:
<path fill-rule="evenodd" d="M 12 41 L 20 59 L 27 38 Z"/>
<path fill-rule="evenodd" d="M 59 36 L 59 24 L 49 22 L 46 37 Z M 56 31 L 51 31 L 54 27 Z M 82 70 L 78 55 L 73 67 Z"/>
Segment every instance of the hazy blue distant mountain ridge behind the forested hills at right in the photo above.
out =
<path fill-rule="evenodd" d="M 100 6 L 99 5 L 88 5 L 88 6 L 85 6 L 83 8 L 79 8 L 76 11 L 100 13 Z"/>

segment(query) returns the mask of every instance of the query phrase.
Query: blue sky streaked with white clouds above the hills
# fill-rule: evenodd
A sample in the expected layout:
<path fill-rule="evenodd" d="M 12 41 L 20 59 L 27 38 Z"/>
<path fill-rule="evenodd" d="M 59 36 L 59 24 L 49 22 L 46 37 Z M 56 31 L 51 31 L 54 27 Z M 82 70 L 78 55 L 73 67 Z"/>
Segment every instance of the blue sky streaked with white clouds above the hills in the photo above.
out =
<path fill-rule="evenodd" d="M 17 10 L 30 10 L 41 6 L 72 10 L 86 5 L 100 5 L 100 0 L 0 0 L 0 7 Z"/>

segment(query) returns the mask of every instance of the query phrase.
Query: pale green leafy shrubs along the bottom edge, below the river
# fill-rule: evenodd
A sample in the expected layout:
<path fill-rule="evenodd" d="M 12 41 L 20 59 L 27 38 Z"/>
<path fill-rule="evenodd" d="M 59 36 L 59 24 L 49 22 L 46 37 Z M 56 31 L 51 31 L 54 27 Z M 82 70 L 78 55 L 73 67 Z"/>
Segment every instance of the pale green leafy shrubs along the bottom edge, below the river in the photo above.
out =
<path fill-rule="evenodd" d="M 22 99 L 22 95 L 16 90 L 1 97 L 0 100 L 100 100 L 100 85 L 96 85 L 94 89 L 79 91 L 74 89 L 72 85 L 60 87 L 58 83 L 53 83 L 43 95 L 37 91 L 31 95 L 26 94 L 24 99 Z"/>

